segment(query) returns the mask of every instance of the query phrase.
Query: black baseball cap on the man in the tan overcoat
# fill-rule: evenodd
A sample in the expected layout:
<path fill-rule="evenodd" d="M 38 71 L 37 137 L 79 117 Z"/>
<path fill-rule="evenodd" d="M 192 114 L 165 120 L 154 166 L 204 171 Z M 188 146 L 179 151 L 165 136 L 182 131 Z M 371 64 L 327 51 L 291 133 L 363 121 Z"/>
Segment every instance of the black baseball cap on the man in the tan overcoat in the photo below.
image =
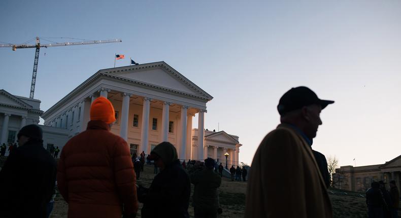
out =
<path fill-rule="evenodd" d="M 281 96 L 279 105 L 277 105 L 277 110 L 280 115 L 284 115 L 288 112 L 302 108 L 303 106 L 308 106 L 311 104 L 319 104 L 325 108 L 328 104 L 332 104 L 334 101 L 322 100 L 317 97 L 315 92 L 310 88 L 305 86 L 299 86 L 296 88 L 291 88 L 283 96 Z"/>

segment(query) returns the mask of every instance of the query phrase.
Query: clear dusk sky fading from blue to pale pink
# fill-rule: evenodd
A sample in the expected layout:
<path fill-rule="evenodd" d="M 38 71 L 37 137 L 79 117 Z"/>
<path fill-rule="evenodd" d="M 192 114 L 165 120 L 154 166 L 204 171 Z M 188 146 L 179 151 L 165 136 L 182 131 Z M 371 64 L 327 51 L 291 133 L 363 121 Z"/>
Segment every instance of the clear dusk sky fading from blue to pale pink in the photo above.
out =
<path fill-rule="evenodd" d="M 113 67 L 115 53 L 126 57 L 116 66 L 129 65 L 129 57 L 165 61 L 214 97 L 205 128 L 238 135 L 240 161 L 248 164 L 280 122 L 280 97 L 307 86 L 336 101 L 322 111 L 312 148 L 341 166 L 362 166 L 401 155 L 400 11 L 401 1 L 391 0 L 4 0 L 0 44 L 122 39 L 42 48 L 41 110 Z M 29 97 L 34 56 L 35 49 L 0 48 L 0 89 Z"/>

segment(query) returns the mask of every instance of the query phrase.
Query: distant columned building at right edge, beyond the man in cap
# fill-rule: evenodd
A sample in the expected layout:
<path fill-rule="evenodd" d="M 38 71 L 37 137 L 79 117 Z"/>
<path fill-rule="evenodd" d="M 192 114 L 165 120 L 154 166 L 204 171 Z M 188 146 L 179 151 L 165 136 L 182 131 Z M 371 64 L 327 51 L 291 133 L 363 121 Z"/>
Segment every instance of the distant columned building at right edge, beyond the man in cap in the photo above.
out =
<path fill-rule="evenodd" d="M 401 187 L 401 155 L 385 164 L 369 166 L 341 166 L 333 173 L 333 187 L 349 191 L 364 192 L 372 181 L 384 180 L 387 185 L 395 180 Z"/>

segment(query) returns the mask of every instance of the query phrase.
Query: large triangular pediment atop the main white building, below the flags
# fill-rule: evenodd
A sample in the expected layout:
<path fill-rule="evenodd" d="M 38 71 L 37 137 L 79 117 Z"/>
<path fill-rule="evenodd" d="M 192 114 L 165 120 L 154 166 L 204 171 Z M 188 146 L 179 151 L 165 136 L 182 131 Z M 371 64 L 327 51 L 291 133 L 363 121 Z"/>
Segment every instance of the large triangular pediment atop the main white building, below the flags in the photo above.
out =
<path fill-rule="evenodd" d="M 105 69 L 101 71 L 114 76 L 127 78 L 129 80 L 144 82 L 170 90 L 177 90 L 183 93 L 208 98 L 210 100 L 213 98 L 163 61 L 121 67 L 121 69 Z"/>

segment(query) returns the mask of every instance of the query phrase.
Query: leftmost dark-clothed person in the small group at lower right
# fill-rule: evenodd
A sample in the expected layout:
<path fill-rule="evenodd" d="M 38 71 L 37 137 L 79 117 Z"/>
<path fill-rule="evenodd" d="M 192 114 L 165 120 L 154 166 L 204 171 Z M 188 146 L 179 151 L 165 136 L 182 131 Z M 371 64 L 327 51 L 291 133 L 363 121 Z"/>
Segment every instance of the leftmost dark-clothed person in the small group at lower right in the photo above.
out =
<path fill-rule="evenodd" d="M 369 218 L 383 217 L 384 200 L 379 186 L 379 183 L 374 181 L 371 184 L 371 188 L 366 191 L 366 205 Z"/>

